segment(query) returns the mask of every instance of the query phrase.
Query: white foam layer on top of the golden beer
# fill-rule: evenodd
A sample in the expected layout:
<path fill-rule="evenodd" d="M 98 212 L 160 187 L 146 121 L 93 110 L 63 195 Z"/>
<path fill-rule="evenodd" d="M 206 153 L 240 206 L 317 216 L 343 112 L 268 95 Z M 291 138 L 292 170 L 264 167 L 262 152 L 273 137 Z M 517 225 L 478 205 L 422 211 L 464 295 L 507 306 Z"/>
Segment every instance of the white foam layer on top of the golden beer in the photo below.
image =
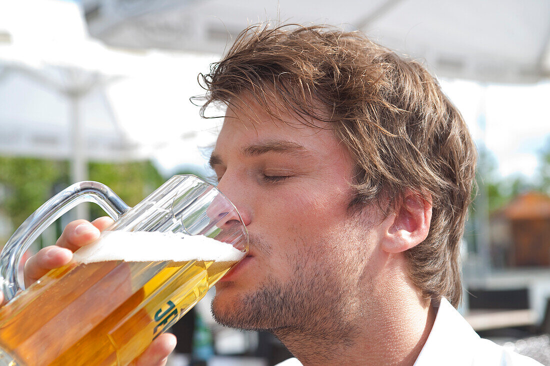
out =
<path fill-rule="evenodd" d="M 245 256 L 228 243 L 204 235 L 185 235 L 173 232 L 105 231 L 102 237 L 74 253 L 78 263 L 97 263 L 109 260 L 125 262 L 157 262 L 173 260 L 215 260 L 237 262 Z"/>

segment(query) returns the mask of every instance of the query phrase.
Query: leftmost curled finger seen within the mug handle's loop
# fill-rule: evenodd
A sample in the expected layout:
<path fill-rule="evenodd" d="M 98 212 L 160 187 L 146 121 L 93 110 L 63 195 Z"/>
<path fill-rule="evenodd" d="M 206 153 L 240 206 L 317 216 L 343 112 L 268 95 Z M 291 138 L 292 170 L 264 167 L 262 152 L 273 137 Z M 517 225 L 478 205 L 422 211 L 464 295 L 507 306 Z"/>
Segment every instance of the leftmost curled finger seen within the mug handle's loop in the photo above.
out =
<path fill-rule="evenodd" d="M 30 286 L 48 271 L 70 262 L 73 253 L 67 248 L 49 246 L 41 249 L 25 263 L 25 287 Z"/>

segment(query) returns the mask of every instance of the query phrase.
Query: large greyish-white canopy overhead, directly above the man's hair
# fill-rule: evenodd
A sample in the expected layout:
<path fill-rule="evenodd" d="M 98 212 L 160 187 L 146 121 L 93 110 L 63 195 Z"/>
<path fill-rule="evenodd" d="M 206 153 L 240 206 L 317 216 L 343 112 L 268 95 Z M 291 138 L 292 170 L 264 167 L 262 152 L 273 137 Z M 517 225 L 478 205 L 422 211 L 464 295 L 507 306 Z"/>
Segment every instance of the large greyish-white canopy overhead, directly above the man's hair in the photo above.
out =
<path fill-rule="evenodd" d="M 359 29 L 425 59 L 438 76 L 536 82 L 550 76 L 546 0 L 83 0 L 92 36 L 109 45 L 222 53 L 266 19 Z"/>

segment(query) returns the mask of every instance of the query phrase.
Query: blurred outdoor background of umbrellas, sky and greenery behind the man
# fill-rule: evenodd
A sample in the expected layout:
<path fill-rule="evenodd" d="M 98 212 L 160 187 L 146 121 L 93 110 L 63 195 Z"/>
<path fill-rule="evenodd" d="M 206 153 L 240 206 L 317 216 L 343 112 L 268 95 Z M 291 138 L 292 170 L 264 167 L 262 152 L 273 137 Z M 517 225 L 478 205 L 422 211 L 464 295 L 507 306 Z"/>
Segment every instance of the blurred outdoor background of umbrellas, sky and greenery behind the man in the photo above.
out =
<path fill-rule="evenodd" d="M 361 30 L 438 76 L 480 156 L 460 311 L 481 336 L 550 365 L 547 0 L 0 0 L 0 245 L 76 181 L 133 206 L 174 174 L 208 178 L 221 120 L 190 101 L 204 93 L 197 75 L 270 19 Z M 72 211 L 27 256 L 70 220 L 103 215 Z M 174 326 L 170 365 L 289 357 L 270 335 L 216 325 L 209 303 Z"/>

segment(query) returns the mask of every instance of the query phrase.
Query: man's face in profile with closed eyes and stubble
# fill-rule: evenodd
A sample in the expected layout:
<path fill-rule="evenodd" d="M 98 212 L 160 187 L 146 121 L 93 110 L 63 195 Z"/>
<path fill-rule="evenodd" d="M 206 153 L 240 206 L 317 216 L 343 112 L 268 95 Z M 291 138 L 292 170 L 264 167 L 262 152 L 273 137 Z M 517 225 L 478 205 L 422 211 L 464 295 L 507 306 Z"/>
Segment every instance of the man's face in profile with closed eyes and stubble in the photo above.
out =
<path fill-rule="evenodd" d="M 291 125 L 273 121 L 243 101 L 228 109 L 211 165 L 249 231 L 250 254 L 216 285 L 213 313 L 245 329 L 345 324 L 372 277 L 377 214 L 350 214 L 354 165 L 332 131 L 288 115 Z"/>

